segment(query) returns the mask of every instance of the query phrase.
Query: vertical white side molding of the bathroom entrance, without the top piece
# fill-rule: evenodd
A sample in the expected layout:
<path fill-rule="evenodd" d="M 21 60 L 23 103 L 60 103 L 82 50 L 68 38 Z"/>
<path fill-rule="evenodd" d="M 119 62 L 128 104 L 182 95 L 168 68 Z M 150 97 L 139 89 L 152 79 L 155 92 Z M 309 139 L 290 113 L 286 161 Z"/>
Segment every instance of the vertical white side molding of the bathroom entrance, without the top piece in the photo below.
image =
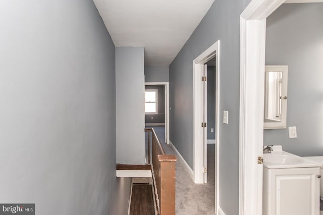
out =
<path fill-rule="evenodd" d="M 253 22 L 251 25 L 248 22 Z M 265 30 L 265 20 L 246 21 L 241 18 L 241 46 L 251 43 L 260 44 L 265 34 L 253 34 L 256 29 Z M 264 31 L 262 31 L 264 33 Z M 247 35 L 245 35 L 247 34 Z M 245 36 L 245 37 L 244 37 Z M 264 48 L 264 47 L 262 47 Z M 245 47 L 241 47 L 241 51 Z M 257 157 L 262 157 L 262 151 L 258 148 L 262 139 L 258 136 L 263 134 L 263 98 L 259 95 L 264 89 L 259 89 L 259 81 L 264 81 L 264 55 L 258 49 L 250 50 L 250 53 L 241 53 L 240 71 L 240 128 L 239 128 L 239 214 L 261 214 L 262 203 L 262 165 L 257 164 Z M 246 56 L 244 55 L 246 54 Z M 249 57 L 250 56 L 250 57 Z M 257 62 L 254 66 L 252 59 Z M 263 65 L 261 69 L 260 65 Z M 248 72 L 247 72 L 248 71 Z M 252 86 L 250 86 L 252 85 Z M 258 94 L 258 96 L 256 96 Z M 261 102 L 262 101 L 262 102 Z M 262 107 L 262 108 L 261 108 Z M 260 132 L 261 131 L 261 132 Z M 256 134 L 256 135 L 254 135 Z M 260 168 L 261 167 L 261 168 Z"/>

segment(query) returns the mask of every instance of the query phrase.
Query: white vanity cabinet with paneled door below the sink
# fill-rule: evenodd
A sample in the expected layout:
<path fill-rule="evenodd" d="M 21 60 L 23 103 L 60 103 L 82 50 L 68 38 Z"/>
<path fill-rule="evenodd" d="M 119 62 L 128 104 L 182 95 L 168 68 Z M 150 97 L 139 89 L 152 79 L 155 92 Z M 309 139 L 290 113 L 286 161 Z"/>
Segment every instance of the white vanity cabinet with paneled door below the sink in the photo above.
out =
<path fill-rule="evenodd" d="M 319 167 L 263 168 L 263 215 L 318 215 Z"/>

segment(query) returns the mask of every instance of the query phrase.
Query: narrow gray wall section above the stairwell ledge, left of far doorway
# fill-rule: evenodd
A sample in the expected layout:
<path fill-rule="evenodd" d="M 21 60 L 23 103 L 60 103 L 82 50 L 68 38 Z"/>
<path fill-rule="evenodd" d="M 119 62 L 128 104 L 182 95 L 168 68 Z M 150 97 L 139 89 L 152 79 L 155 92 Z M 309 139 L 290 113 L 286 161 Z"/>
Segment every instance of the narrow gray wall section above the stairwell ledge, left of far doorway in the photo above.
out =
<path fill-rule="evenodd" d="M 117 163 L 145 163 L 144 48 L 116 48 Z"/>

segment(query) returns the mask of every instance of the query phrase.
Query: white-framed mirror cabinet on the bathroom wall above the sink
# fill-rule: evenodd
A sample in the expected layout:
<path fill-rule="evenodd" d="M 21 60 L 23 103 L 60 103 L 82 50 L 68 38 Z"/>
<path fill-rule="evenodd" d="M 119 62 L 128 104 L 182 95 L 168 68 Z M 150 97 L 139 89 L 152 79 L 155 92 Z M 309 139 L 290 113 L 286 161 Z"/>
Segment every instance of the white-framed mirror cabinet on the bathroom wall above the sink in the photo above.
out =
<path fill-rule="evenodd" d="M 287 65 L 266 65 L 263 128 L 286 128 Z"/>

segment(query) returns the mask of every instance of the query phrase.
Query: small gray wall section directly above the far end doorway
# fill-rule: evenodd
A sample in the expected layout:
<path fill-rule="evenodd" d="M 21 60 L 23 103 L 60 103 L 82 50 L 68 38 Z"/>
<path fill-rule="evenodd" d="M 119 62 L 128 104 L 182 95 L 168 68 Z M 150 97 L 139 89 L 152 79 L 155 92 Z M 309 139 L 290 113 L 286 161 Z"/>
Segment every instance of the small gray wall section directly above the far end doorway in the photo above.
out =
<path fill-rule="evenodd" d="M 169 67 L 145 66 L 145 82 L 169 82 Z"/>

